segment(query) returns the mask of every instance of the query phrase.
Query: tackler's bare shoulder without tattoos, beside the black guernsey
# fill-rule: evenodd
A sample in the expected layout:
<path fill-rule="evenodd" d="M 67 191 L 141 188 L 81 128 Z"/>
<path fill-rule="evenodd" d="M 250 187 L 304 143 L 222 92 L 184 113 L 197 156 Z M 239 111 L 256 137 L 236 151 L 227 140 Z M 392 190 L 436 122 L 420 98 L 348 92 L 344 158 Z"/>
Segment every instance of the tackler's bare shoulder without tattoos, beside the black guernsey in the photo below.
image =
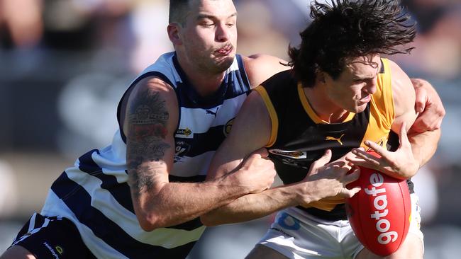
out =
<path fill-rule="evenodd" d="M 253 54 L 248 57 L 242 56 L 242 60 L 252 87 L 259 86 L 263 81 L 270 78 L 270 76 L 290 68 L 284 65 L 287 62 L 283 59 L 267 54 Z"/>

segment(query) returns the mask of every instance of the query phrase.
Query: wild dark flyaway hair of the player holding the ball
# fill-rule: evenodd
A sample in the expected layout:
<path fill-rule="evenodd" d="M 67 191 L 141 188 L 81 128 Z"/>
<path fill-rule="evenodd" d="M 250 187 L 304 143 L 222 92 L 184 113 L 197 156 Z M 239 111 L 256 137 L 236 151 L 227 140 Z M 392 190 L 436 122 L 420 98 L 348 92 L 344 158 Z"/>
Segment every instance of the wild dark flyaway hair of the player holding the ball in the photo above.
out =
<path fill-rule="evenodd" d="M 348 59 L 369 54 L 409 53 L 416 23 L 396 0 L 331 0 L 311 4 L 312 23 L 299 47 L 289 47 L 288 65 L 304 87 L 313 87 L 316 71 L 338 79 Z"/>

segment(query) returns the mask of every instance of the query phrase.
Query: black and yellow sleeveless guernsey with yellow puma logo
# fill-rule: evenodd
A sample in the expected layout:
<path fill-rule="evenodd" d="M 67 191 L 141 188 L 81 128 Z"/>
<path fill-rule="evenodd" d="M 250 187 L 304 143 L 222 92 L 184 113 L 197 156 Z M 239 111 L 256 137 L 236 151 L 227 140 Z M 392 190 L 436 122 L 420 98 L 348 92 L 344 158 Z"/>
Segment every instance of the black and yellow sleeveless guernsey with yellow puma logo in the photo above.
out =
<path fill-rule="evenodd" d="M 377 92 L 362 113 L 350 113 L 343 122 L 321 120 L 309 105 L 293 71 L 282 71 L 255 88 L 265 102 L 272 120 L 267 150 L 284 184 L 303 180 L 313 161 L 326 149 L 333 151 L 332 161 L 352 148 L 371 140 L 385 146 L 394 120 L 394 102 L 389 62 L 382 59 Z M 299 207 L 323 219 L 347 219 L 340 197 Z"/>

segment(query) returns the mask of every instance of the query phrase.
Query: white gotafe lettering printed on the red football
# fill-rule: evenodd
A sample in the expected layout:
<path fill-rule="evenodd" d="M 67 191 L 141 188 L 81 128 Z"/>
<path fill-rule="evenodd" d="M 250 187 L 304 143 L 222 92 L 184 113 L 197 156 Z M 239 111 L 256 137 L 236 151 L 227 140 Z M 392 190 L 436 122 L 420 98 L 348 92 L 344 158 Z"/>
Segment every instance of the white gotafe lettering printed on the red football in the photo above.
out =
<path fill-rule="evenodd" d="M 373 207 L 376 209 L 373 214 L 370 214 L 372 219 L 376 219 L 376 229 L 381 232 L 377 237 L 378 243 L 386 245 L 389 242 L 395 242 L 399 237 L 396 231 L 389 231 L 391 222 L 385 217 L 389 214 L 387 208 L 386 188 L 379 188 L 384 183 L 384 177 L 380 173 L 372 173 L 370 175 L 370 184 L 372 188 L 365 188 L 365 193 L 374 197 Z"/>

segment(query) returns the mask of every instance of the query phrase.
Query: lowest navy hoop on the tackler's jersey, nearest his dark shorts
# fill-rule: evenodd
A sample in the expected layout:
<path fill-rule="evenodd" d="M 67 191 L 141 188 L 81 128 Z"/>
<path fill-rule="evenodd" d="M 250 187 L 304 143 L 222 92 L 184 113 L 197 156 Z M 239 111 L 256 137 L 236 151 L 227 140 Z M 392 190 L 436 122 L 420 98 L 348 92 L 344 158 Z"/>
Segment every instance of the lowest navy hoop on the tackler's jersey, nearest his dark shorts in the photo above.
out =
<path fill-rule="evenodd" d="M 104 216 L 98 209 L 92 207 L 91 196 L 82 186 L 70 180 L 67 173 L 62 173 L 57 178 L 52 184 L 51 190 L 65 202 L 82 224 L 93 231 L 95 236 L 128 258 L 152 258 L 154 255 L 156 258 L 185 258 L 194 246 L 195 242 L 191 242 L 184 246 L 168 249 L 136 241 L 120 226 Z M 69 190 L 74 191 L 69 193 Z"/>

